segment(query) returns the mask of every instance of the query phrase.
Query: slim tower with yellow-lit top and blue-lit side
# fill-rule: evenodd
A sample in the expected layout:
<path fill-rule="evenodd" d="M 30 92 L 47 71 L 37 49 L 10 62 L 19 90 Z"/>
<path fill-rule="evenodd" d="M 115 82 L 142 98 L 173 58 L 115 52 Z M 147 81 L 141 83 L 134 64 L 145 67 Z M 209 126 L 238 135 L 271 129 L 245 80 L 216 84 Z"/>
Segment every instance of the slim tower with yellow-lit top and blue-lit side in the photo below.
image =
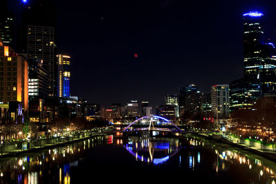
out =
<path fill-rule="evenodd" d="M 57 55 L 57 96 L 59 97 L 70 97 L 70 57 L 58 54 Z"/>

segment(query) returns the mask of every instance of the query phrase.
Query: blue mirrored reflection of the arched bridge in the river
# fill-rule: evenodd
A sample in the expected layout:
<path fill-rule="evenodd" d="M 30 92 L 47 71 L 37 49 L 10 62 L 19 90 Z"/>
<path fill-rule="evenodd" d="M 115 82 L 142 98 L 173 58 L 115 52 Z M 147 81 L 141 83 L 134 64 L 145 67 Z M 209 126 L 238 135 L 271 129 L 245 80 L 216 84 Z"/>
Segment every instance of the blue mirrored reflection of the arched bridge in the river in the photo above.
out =
<path fill-rule="evenodd" d="M 180 149 L 178 139 L 153 139 L 132 137 L 124 145 L 137 161 L 159 165 L 166 163 Z"/>

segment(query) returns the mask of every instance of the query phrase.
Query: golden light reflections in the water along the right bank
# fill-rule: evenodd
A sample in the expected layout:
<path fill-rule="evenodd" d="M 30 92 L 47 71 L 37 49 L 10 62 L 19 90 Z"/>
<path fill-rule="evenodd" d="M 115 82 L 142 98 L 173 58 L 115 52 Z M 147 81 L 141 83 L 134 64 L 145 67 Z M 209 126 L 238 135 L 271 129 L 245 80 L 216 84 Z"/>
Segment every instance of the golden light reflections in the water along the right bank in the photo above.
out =
<path fill-rule="evenodd" d="M 217 174 L 223 172 L 233 172 L 234 169 L 240 170 L 244 180 L 249 183 L 275 183 L 275 162 L 264 159 L 261 156 L 251 154 L 237 147 L 231 147 L 223 143 L 213 141 L 204 141 L 198 137 L 187 137 L 185 144 L 190 145 L 193 150 L 201 150 L 206 154 L 207 150 L 211 150 L 217 158 L 214 160 L 215 171 Z M 201 152 L 190 152 L 189 167 L 195 167 L 195 156 L 197 154 L 197 163 L 201 162 Z M 262 160 L 260 160 L 262 159 Z"/>

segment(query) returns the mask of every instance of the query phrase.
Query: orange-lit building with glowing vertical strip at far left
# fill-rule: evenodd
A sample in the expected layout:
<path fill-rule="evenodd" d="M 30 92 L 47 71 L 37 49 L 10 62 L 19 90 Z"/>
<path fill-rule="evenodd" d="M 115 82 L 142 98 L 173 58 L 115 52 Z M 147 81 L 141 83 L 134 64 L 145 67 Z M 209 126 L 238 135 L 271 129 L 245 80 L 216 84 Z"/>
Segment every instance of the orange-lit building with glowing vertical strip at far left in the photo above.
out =
<path fill-rule="evenodd" d="M 0 42 L 0 101 L 22 104 L 28 110 L 28 62 Z"/>

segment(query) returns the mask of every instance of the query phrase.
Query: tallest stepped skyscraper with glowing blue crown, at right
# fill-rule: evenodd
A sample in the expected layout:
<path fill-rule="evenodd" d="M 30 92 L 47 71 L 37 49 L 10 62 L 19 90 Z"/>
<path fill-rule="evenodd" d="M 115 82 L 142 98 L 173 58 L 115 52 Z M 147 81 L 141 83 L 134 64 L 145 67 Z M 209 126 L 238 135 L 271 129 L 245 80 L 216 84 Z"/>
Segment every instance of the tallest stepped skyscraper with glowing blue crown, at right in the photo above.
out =
<path fill-rule="evenodd" d="M 264 41 L 264 14 L 244 14 L 244 80 L 248 90 L 272 90 L 276 85 L 275 45 Z M 256 95 L 262 96 L 261 92 Z M 259 96 L 252 95 L 253 99 Z"/>

